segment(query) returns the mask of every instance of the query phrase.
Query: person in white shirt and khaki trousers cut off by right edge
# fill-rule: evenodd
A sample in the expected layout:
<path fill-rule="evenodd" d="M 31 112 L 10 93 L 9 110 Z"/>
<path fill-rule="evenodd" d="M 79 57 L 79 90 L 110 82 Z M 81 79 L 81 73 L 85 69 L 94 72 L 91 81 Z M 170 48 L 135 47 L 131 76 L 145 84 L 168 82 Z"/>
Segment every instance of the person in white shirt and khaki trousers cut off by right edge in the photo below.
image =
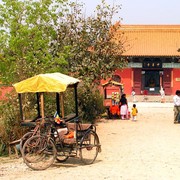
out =
<path fill-rule="evenodd" d="M 173 97 L 174 103 L 174 123 L 178 123 L 178 117 L 180 114 L 180 90 L 176 91 L 176 95 Z"/>

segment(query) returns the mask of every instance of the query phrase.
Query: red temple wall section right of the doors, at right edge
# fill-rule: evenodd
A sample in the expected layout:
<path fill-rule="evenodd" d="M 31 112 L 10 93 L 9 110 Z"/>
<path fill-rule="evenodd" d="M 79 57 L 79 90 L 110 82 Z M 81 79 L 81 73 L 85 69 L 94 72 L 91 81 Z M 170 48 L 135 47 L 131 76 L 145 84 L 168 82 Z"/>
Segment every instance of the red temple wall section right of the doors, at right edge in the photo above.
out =
<path fill-rule="evenodd" d="M 172 94 L 175 94 L 176 90 L 180 90 L 180 69 L 173 69 L 172 81 L 173 81 L 173 88 Z"/>

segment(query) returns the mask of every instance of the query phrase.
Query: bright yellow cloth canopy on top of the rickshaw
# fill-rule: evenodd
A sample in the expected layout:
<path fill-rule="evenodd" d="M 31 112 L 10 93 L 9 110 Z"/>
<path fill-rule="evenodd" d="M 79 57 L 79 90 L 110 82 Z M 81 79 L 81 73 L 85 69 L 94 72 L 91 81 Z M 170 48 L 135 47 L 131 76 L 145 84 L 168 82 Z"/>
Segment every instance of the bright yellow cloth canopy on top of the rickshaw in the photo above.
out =
<path fill-rule="evenodd" d="M 17 93 L 26 92 L 64 92 L 69 85 L 80 80 L 61 73 L 39 74 L 13 84 Z"/>

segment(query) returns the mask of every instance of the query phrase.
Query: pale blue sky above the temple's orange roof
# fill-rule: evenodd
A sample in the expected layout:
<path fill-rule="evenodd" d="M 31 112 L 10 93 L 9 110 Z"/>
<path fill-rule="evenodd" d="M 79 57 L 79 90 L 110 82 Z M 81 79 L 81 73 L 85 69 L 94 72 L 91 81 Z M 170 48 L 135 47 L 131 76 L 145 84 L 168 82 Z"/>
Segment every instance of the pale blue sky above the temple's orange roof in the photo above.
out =
<path fill-rule="evenodd" d="M 101 0 L 79 0 L 85 3 L 86 13 L 93 13 Z M 122 24 L 180 24 L 180 0 L 106 0 L 108 4 L 122 4 L 115 16 Z"/>

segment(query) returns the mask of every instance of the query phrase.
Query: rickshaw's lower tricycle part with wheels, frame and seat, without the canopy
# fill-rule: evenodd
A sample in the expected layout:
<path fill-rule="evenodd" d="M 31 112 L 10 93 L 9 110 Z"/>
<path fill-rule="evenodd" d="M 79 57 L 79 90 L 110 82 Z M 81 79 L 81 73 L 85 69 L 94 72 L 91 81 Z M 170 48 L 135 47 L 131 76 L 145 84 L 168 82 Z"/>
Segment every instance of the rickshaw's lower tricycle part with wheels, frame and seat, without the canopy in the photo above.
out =
<path fill-rule="evenodd" d="M 22 149 L 22 157 L 28 167 L 33 170 L 44 170 L 50 167 L 55 159 L 64 162 L 69 157 L 79 157 L 84 164 L 92 164 L 101 151 L 96 128 L 92 124 L 81 124 L 79 118 L 73 123 L 66 122 L 69 132 L 74 126 L 74 137 L 55 136 L 58 127 L 51 123 L 46 134 L 30 137 Z M 84 126 L 86 126 L 84 128 Z M 56 132 L 56 133 L 55 133 Z"/>

